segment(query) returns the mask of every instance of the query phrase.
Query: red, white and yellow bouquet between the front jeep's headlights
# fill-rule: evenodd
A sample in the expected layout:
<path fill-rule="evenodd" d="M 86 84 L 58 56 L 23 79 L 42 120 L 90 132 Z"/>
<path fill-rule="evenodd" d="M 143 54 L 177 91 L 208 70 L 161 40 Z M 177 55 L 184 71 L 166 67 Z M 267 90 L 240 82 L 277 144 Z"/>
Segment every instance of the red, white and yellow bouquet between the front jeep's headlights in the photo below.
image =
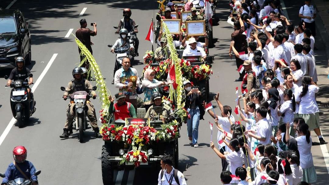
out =
<path fill-rule="evenodd" d="M 133 146 L 133 150 L 129 151 L 127 154 L 123 155 L 123 159 L 120 161 L 120 164 L 127 162 L 134 163 L 135 168 L 139 167 L 140 163 L 146 163 L 148 154 L 146 151 L 142 151 L 141 147 L 137 149 L 136 146 Z"/>

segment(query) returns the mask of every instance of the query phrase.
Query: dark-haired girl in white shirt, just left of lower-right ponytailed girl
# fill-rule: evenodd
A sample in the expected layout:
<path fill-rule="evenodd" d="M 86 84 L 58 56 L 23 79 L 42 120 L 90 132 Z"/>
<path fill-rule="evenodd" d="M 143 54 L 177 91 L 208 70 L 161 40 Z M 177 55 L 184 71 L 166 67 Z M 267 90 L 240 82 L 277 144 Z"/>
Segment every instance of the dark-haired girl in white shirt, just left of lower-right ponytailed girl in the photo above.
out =
<path fill-rule="evenodd" d="M 290 163 L 290 168 L 292 172 L 292 184 L 290 185 L 298 185 L 300 181 L 302 181 L 303 169 L 299 166 L 299 154 L 296 151 L 289 150 L 287 154 L 287 159 Z"/>

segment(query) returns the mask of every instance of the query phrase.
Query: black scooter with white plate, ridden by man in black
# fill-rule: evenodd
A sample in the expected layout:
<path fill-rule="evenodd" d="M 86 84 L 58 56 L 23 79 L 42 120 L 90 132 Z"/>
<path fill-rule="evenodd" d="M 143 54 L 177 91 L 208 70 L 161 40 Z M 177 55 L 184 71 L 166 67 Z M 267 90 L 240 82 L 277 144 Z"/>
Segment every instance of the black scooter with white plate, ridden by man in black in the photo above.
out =
<path fill-rule="evenodd" d="M 32 76 L 30 74 L 26 79 Z M 5 79 L 8 79 L 7 75 Z M 32 91 L 30 92 L 31 97 L 29 99 L 29 93 L 27 91 L 29 84 L 25 80 L 15 80 L 9 86 L 6 85 L 6 87 L 13 88 L 10 93 L 10 105 L 13 117 L 17 120 L 18 127 L 23 127 L 36 111 L 33 93 Z"/>

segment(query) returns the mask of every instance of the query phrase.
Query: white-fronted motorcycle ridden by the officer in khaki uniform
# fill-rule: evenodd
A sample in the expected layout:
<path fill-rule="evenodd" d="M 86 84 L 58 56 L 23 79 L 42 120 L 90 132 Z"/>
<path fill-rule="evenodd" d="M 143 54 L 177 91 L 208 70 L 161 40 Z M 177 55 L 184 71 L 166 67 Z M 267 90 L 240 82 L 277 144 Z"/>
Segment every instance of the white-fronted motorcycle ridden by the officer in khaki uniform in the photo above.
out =
<path fill-rule="evenodd" d="M 92 90 L 96 91 L 97 87 L 94 86 Z M 62 91 L 65 91 L 65 87 L 61 87 Z M 91 127 L 88 127 L 87 123 L 87 110 L 88 107 L 86 105 L 86 102 L 89 101 L 87 97 L 92 97 L 93 99 L 96 99 L 96 97 L 93 97 L 92 95 L 88 94 L 86 91 L 77 91 L 72 93 L 71 96 L 66 96 L 64 100 L 67 98 L 70 98 L 71 101 L 74 101 L 74 115 L 75 119 L 73 119 L 72 129 L 79 132 L 79 141 L 80 143 L 83 142 L 83 135 L 84 131 L 87 129 L 90 129 Z"/>

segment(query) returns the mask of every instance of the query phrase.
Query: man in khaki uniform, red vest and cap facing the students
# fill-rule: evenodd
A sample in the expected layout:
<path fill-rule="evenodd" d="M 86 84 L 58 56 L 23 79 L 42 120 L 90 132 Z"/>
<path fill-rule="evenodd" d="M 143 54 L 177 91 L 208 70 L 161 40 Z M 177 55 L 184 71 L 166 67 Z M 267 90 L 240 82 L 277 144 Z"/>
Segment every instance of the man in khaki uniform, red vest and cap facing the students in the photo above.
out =
<path fill-rule="evenodd" d="M 251 93 L 252 88 L 257 88 L 256 85 L 256 74 L 251 68 L 251 61 L 246 60 L 243 62 L 243 67 L 246 73 L 244 74 L 244 77 L 242 79 L 242 93 L 246 92 L 245 97 L 249 97 L 249 94 Z M 258 87 L 259 88 L 259 87 Z"/>

